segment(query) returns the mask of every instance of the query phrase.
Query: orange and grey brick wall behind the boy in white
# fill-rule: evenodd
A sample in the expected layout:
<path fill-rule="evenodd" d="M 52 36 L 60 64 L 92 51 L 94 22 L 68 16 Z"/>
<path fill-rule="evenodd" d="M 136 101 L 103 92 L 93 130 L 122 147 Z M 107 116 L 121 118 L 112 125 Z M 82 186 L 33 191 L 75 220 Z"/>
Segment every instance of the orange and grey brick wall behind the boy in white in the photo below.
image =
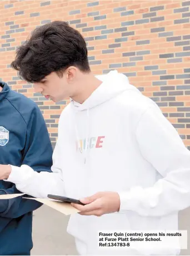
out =
<path fill-rule="evenodd" d="M 0 77 L 37 103 L 53 145 L 59 104 L 33 93 L 9 63 L 44 23 L 63 20 L 82 32 L 94 74 L 117 69 L 151 97 L 190 149 L 190 1 L 1 1 Z"/>

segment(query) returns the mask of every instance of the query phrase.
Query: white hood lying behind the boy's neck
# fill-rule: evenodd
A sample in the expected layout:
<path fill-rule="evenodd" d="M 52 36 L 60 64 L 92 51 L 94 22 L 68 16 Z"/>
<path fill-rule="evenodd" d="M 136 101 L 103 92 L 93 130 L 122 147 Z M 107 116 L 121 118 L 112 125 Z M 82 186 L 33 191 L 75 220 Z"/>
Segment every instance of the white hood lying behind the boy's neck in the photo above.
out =
<path fill-rule="evenodd" d="M 117 70 L 111 71 L 107 75 L 97 75 L 96 77 L 102 83 L 83 104 L 72 100 L 72 104 L 77 111 L 92 109 L 127 90 L 139 92 L 136 87 L 130 85 L 127 76 L 123 73 L 118 73 Z"/>

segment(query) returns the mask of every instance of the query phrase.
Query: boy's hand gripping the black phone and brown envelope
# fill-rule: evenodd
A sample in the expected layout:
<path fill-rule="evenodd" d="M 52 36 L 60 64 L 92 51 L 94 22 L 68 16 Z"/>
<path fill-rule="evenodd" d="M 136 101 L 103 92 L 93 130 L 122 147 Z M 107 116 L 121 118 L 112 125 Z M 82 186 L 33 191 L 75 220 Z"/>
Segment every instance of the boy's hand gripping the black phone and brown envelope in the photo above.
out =
<path fill-rule="evenodd" d="M 88 198 L 80 199 L 86 205 L 71 204 L 79 211 L 81 215 L 102 216 L 107 213 L 119 211 L 120 198 L 117 192 L 105 191 L 98 192 Z"/>

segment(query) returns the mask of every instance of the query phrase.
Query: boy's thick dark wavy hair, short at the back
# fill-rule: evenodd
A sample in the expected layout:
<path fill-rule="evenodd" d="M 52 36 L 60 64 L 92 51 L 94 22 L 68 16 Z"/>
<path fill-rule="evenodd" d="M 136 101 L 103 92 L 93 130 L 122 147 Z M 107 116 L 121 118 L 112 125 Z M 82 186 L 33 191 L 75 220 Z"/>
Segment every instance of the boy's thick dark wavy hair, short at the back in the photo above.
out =
<path fill-rule="evenodd" d="M 17 49 L 11 67 L 28 82 L 39 82 L 51 72 L 62 76 L 69 66 L 90 72 L 88 51 L 82 35 L 67 22 L 54 21 L 34 29 Z"/>

